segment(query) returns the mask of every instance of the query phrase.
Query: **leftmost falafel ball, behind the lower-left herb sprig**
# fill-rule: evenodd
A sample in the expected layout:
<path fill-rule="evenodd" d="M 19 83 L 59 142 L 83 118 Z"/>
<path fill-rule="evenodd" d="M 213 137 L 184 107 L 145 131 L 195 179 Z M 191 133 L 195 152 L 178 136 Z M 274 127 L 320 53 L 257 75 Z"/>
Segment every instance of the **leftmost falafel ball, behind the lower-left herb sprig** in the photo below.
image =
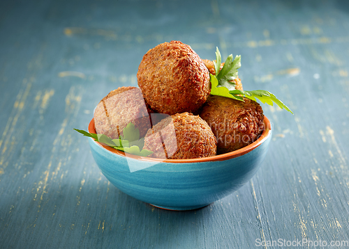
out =
<path fill-rule="evenodd" d="M 123 86 L 112 90 L 103 97 L 94 111 L 94 125 L 97 134 L 105 134 L 110 138 L 119 138 L 129 122 L 135 124 L 143 137 L 151 121 L 149 113 L 154 113 L 144 102 L 140 88 Z"/>

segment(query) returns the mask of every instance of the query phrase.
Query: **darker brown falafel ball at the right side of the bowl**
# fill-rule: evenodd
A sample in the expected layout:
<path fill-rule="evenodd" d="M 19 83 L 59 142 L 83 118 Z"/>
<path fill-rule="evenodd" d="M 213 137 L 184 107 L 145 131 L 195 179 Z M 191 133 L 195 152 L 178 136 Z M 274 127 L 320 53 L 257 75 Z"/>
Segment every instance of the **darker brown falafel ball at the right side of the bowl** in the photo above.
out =
<path fill-rule="evenodd" d="M 264 129 L 260 104 L 244 97 L 244 102 L 210 96 L 200 117 L 209 124 L 217 139 L 217 154 L 238 150 L 253 143 Z"/>

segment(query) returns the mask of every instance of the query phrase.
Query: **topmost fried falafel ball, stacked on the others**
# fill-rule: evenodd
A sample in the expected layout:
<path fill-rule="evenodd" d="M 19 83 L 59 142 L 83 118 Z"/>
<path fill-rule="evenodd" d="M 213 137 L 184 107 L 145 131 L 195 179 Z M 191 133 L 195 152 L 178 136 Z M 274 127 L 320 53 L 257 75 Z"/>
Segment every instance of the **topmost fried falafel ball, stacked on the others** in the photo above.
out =
<path fill-rule="evenodd" d="M 198 111 L 211 87 L 205 64 L 179 41 L 162 43 L 144 54 L 137 79 L 151 109 L 169 115 Z"/>

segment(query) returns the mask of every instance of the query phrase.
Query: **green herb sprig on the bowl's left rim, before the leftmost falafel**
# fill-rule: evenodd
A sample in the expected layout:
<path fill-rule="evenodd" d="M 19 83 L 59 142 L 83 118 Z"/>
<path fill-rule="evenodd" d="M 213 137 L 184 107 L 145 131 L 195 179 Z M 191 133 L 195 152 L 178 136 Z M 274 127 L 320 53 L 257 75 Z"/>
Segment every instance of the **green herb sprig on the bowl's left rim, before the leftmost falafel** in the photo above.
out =
<path fill-rule="evenodd" d="M 144 146 L 144 138 L 140 138 L 140 130 L 135 128 L 135 124 L 129 122 L 126 127 L 122 130 L 124 136 L 119 136 L 117 139 L 112 139 L 105 134 L 94 134 L 84 131 L 82 129 L 75 129 L 75 131 L 87 136 L 94 138 L 99 143 L 104 143 L 107 146 L 113 147 L 114 149 L 134 154 L 136 156 L 149 156 L 153 152 L 150 150 L 142 150 Z"/>

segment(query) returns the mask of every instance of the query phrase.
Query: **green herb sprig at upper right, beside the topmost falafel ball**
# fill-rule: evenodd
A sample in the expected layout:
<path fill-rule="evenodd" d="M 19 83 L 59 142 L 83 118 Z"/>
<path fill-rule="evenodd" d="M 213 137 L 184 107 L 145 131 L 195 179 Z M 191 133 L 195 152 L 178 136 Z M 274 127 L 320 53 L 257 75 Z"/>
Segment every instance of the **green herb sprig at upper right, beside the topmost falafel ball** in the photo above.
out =
<path fill-rule="evenodd" d="M 234 80 L 237 79 L 237 70 L 241 67 L 241 56 L 235 56 L 232 59 L 232 54 L 226 59 L 223 68 L 221 67 L 221 53 L 217 47 L 216 49 L 216 61 L 214 61 L 214 69 L 216 70 L 216 75 L 209 74 L 211 80 L 211 95 L 218 95 L 223 97 L 230 97 L 231 99 L 237 99 L 244 101 L 242 97 L 252 99 L 256 101 L 259 99 L 263 104 L 269 104 L 273 106 L 273 103 L 277 104 L 281 109 L 285 109 L 292 113 L 292 111 L 281 102 L 276 96 L 266 90 L 237 90 L 235 89 Z M 218 73 L 217 73 L 218 72 Z M 293 114 L 293 113 L 292 113 Z"/>

